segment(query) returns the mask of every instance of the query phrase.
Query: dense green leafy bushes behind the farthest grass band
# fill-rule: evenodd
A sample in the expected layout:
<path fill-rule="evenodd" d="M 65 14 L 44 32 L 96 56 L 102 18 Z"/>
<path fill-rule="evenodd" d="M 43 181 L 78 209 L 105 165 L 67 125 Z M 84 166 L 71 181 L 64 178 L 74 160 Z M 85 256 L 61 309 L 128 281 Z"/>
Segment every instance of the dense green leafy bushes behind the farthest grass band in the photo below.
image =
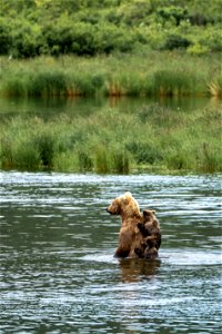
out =
<path fill-rule="evenodd" d="M 221 51 L 221 0 L 1 0 L 0 52 Z"/>

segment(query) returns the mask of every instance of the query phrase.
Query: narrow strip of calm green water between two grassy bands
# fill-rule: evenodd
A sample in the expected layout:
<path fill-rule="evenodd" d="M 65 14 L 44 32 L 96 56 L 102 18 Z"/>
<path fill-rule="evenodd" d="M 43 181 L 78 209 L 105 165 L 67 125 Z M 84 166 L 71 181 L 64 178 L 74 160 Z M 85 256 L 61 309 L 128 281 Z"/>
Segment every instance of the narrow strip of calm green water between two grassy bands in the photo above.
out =
<path fill-rule="evenodd" d="M 221 107 L 220 99 L 209 97 L 202 98 L 128 98 L 128 97 L 112 97 L 112 98 L 3 98 L 0 97 L 0 117 L 11 117 L 18 115 L 34 115 L 39 117 L 54 118 L 56 115 L 65 114 L 69 117 L 77 115 L 89 116 L 104 108 L 118 108 L 122 112 L 134 112 L 144 106 L 158 104 L 160 106 L 180 111 L 192 111 L 198 109 L 205 109 L 206 107 Z"/>

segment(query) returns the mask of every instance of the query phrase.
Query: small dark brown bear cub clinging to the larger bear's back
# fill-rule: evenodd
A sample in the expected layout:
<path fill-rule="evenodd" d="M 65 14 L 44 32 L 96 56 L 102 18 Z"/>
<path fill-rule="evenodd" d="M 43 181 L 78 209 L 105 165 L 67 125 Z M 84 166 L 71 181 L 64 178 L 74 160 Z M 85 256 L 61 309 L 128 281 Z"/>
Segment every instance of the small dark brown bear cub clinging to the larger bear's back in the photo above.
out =
<path fill-rule="evenodd" d="M 135 249 L 139 257 L 157 258 L 158 249 L 161 245 L 160 224 L 154 210 L 143 210 L 142 223 L 138 223 L 138 228 L 144 237 L 143 245 Z"/>

